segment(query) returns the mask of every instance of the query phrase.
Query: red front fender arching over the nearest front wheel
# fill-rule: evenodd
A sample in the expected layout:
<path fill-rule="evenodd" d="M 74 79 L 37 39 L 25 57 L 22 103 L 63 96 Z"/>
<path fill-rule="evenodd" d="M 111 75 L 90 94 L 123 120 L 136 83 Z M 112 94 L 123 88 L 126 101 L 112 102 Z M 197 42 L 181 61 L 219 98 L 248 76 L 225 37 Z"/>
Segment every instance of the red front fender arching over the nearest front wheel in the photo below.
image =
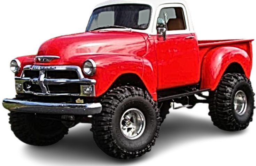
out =
<path fill-rule="evenodd" d="M 96 97 L 101 96 L 110 88 L 115 80 L 122 74 L 136 74 L 146 86 L 149 94 L 156 101 L 156 79 L 154 71 L 150 63 L 145 61 L 143 57 L 126 56 L 126 55 L 100 55 L 92 56 L 92 60 L 97 65 L 94 76 L 89 77 L 95 79 Z"/>

